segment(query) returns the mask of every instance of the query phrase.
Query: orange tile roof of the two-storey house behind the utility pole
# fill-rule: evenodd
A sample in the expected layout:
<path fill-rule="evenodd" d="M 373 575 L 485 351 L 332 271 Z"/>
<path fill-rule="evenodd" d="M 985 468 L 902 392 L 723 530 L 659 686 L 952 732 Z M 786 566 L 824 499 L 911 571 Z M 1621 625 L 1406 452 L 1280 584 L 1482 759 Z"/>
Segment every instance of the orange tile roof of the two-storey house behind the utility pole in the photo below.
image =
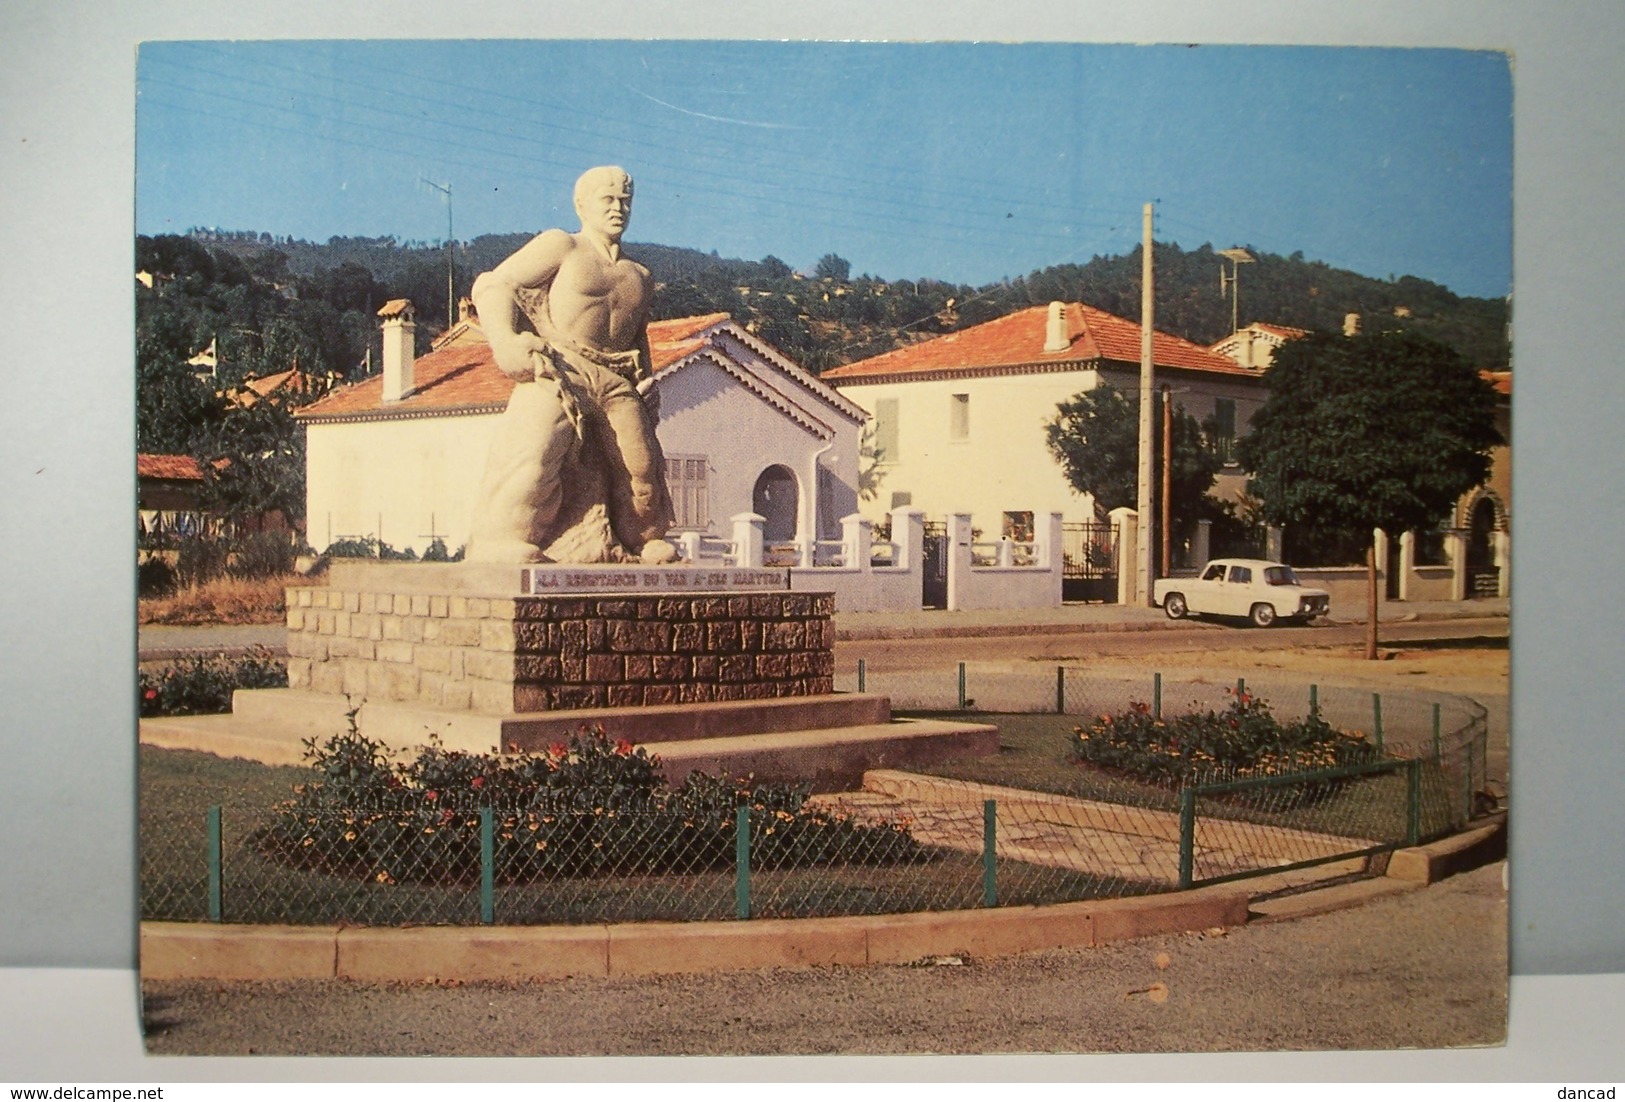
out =
<path fill-rule="evenodd" d="M 1069 345 L 1061 351 L 1048 353 L 1043 349 L 1048 314 L 1050 307 L 1046 306 L 1027 307 L 957 333 L 897 348 L 845 367 L 834 367 L 819 377 L 842 384 L 939 372 L 972 372 L 986 367 L 1060 366 L 1098 359 L 1139 362 L 1138 322 L 1092 306 L 1071 302 L 1066 307 Z M 1238 366 L 1228 356 L 1220 356 L 1172 333 L 1152 335 L 1152 359 L 1159 367 L 1258 375 L 1256 371 Z"/>

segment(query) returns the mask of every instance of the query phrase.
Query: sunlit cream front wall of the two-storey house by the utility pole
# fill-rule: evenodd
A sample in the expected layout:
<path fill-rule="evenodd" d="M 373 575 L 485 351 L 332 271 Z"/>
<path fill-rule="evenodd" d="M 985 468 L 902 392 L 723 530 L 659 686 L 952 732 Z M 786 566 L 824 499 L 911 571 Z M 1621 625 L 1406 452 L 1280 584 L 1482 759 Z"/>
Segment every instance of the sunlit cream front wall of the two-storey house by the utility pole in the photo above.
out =
<path fill-rule="evenodd" d="M 1061 401 L 1094 385 L 1094 371 L 1076 371 L 842 387 L 871 416 L 881 398 L 899 406 L 897 453 L 882 457 L 879 494 L 860 504 L 863 515 L 884 520 L 892 494 L 908 492 L 910 507 L 933 518 L 968 512 L 985 540 L 1001 535 L 1004 512 L 1090 520 L 1094 504 L 1068 484 L 1043 426 Z M 970 395 L 964 440 L 949 436 L 956 393 Z"/>

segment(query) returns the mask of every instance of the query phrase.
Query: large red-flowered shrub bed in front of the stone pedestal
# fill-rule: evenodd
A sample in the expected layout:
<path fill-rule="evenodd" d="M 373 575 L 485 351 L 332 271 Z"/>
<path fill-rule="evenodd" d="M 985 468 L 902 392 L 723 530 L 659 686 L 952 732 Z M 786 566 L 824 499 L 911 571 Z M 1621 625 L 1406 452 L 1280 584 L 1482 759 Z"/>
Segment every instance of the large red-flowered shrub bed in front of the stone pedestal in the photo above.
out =
<path fill-rule="evenodd" d="M 596 873 L 728 868 L 734 818 L 749 808 L 752 860 L 920 860 L 902 824 L 856 824 L 808 806 L 796 785 L 692 774 L 671 790 L 660 759 L 601 728 L 541 754 L 470 754 L 437 741 L 390 766 L 359 735 L 307 740 L 315 777 L 257 835 L 263 853 L 374 883 L 473 883 L 481 813 L 491 809 L 496 879 L 504 884 Z"/>

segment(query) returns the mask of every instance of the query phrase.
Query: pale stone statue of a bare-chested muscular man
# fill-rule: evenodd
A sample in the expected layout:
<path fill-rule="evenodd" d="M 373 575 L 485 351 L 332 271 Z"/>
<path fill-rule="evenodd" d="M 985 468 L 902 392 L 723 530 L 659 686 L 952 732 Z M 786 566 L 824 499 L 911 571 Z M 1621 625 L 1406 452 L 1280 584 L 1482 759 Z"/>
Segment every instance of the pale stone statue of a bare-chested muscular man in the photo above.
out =
<path fill-rule="evenodd" d="M 632 177 L 588 169 L 575 184 L 580 232 L 549 229 L 474 280 L 479 325 L 517 382 L 474 505 L 466 558 L 481 562 L 678 558 L 650 388 L 648 270 L 621 255 Z M 592 492 L 603 484 L 601 538 Z M 582 514 L 582 515 L 577 515 Z M 559 549 L 559 544 L 564 549 Z"/>

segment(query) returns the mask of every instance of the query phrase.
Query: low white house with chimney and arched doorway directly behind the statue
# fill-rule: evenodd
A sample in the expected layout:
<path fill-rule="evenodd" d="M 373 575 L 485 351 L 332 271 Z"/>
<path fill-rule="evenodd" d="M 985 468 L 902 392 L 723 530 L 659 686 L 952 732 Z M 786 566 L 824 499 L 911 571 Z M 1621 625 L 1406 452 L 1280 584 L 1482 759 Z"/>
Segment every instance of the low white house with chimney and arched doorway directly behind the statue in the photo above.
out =
<path fill-rule="evenodd" d="M 478 319 L 413 358 L 413 307 L 387 304 L 384 371 L 297 411 L 306 426 L 309 540 L 372 536 L 421 553 L 468 540 L 496 414 L 514 384 Z M 684 531 L 730 538 L 767 518 L 769 543 L 834 540 L 858 507 L 864 411 L 726 314 L 648 327 L 658 437 Z"/>

